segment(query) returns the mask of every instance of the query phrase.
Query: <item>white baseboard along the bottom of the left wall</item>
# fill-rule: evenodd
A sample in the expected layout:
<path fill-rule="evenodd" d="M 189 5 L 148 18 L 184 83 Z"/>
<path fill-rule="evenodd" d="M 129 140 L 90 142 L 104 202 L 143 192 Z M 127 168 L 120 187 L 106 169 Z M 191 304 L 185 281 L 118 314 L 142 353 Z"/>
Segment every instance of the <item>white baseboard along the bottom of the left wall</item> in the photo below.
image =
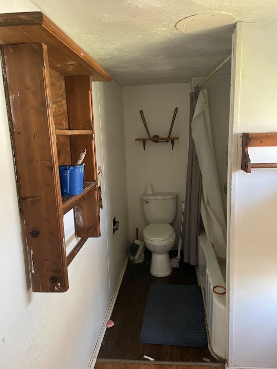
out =
<path fill-rule="evenodd" d="M 115 304 L 115 301 L 116 301 L 116 298 L 117 298 L 117 295 L 118 295 L 118 291 L 119 291 L 119 288 L 120 288 L 120 285 L 121 285 L 121 282 L 122 282 L 122 278 L 123 278 L 123 275 L 124 275 L 124 272 L 125 272 L 125 269 L 126 269 L 126 266 L 127 266 L 128 259 L 129 259 L 129 256 L 127 256 L 126 261 L 123 265 L 122 271 L 120 273 L 120 276 L 119 276 L 119 279 L 118 279 L 118 282 L 117 282 L 117 285 L 116 285 L 116 288 L 115 288 L 115 291 L 114 291 L 114 294 L 113 294 L 113 297 L 112 297 L 112 300 L 111 300 L 111 303 L 110 303 L 110 306 L 109 306 L 109 309 L 108 309 L 108 312 L 106 314 L 105 320 L 103 322 L 103 325 L 102 325 L 102 328 L 101 328 L 101 331 L 100 331 L 100 334 L 99 334 L 99 337 L 98 337 L 98 340 L 96 342 L 95 349 L 94 349 L 92 357 L 90 359 L 88 369 L 93 369 L 94 366 L 95 366 L 96 359 L 97 359 L 98 353 L 100 351 L 101 343 L 103 341 L 103 338 L 104 338 L 104 335 L 105 335 L 105 332 L 106 332 L 106 329 L 107 329 L 106 322 L 107 322 L 107 320 L 110 319 L 111 313 L 113 311 L 113 307 L 114 307 L 114 304 Z"/>

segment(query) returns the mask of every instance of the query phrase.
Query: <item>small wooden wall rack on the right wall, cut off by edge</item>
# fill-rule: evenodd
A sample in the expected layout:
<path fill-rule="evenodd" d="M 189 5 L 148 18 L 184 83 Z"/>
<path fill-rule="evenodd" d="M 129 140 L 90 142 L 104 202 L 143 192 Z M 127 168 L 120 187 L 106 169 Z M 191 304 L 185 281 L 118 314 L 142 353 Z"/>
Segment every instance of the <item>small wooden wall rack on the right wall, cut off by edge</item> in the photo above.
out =
<path fill-rule="evenodd" d="M 242 134 L 241 169 L 251 173 L 251 168 L 277 168 L 277 163 L 251 163 L 248 147 L 277 146 L 277 132 Z"/>

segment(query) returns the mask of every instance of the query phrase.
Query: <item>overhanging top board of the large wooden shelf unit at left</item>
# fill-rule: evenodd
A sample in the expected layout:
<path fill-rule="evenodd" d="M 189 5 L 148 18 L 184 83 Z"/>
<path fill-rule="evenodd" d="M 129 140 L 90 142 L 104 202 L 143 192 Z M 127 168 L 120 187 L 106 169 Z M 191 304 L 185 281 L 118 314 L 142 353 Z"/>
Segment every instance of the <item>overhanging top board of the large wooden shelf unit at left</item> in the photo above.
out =
<path fill-rule="evenodd" d="M 106 70 L 41 12 L 0 15 L 0 45 L 20 43 L 45 44 L 50 69 L 63 76 L 111 81 Z"/>

